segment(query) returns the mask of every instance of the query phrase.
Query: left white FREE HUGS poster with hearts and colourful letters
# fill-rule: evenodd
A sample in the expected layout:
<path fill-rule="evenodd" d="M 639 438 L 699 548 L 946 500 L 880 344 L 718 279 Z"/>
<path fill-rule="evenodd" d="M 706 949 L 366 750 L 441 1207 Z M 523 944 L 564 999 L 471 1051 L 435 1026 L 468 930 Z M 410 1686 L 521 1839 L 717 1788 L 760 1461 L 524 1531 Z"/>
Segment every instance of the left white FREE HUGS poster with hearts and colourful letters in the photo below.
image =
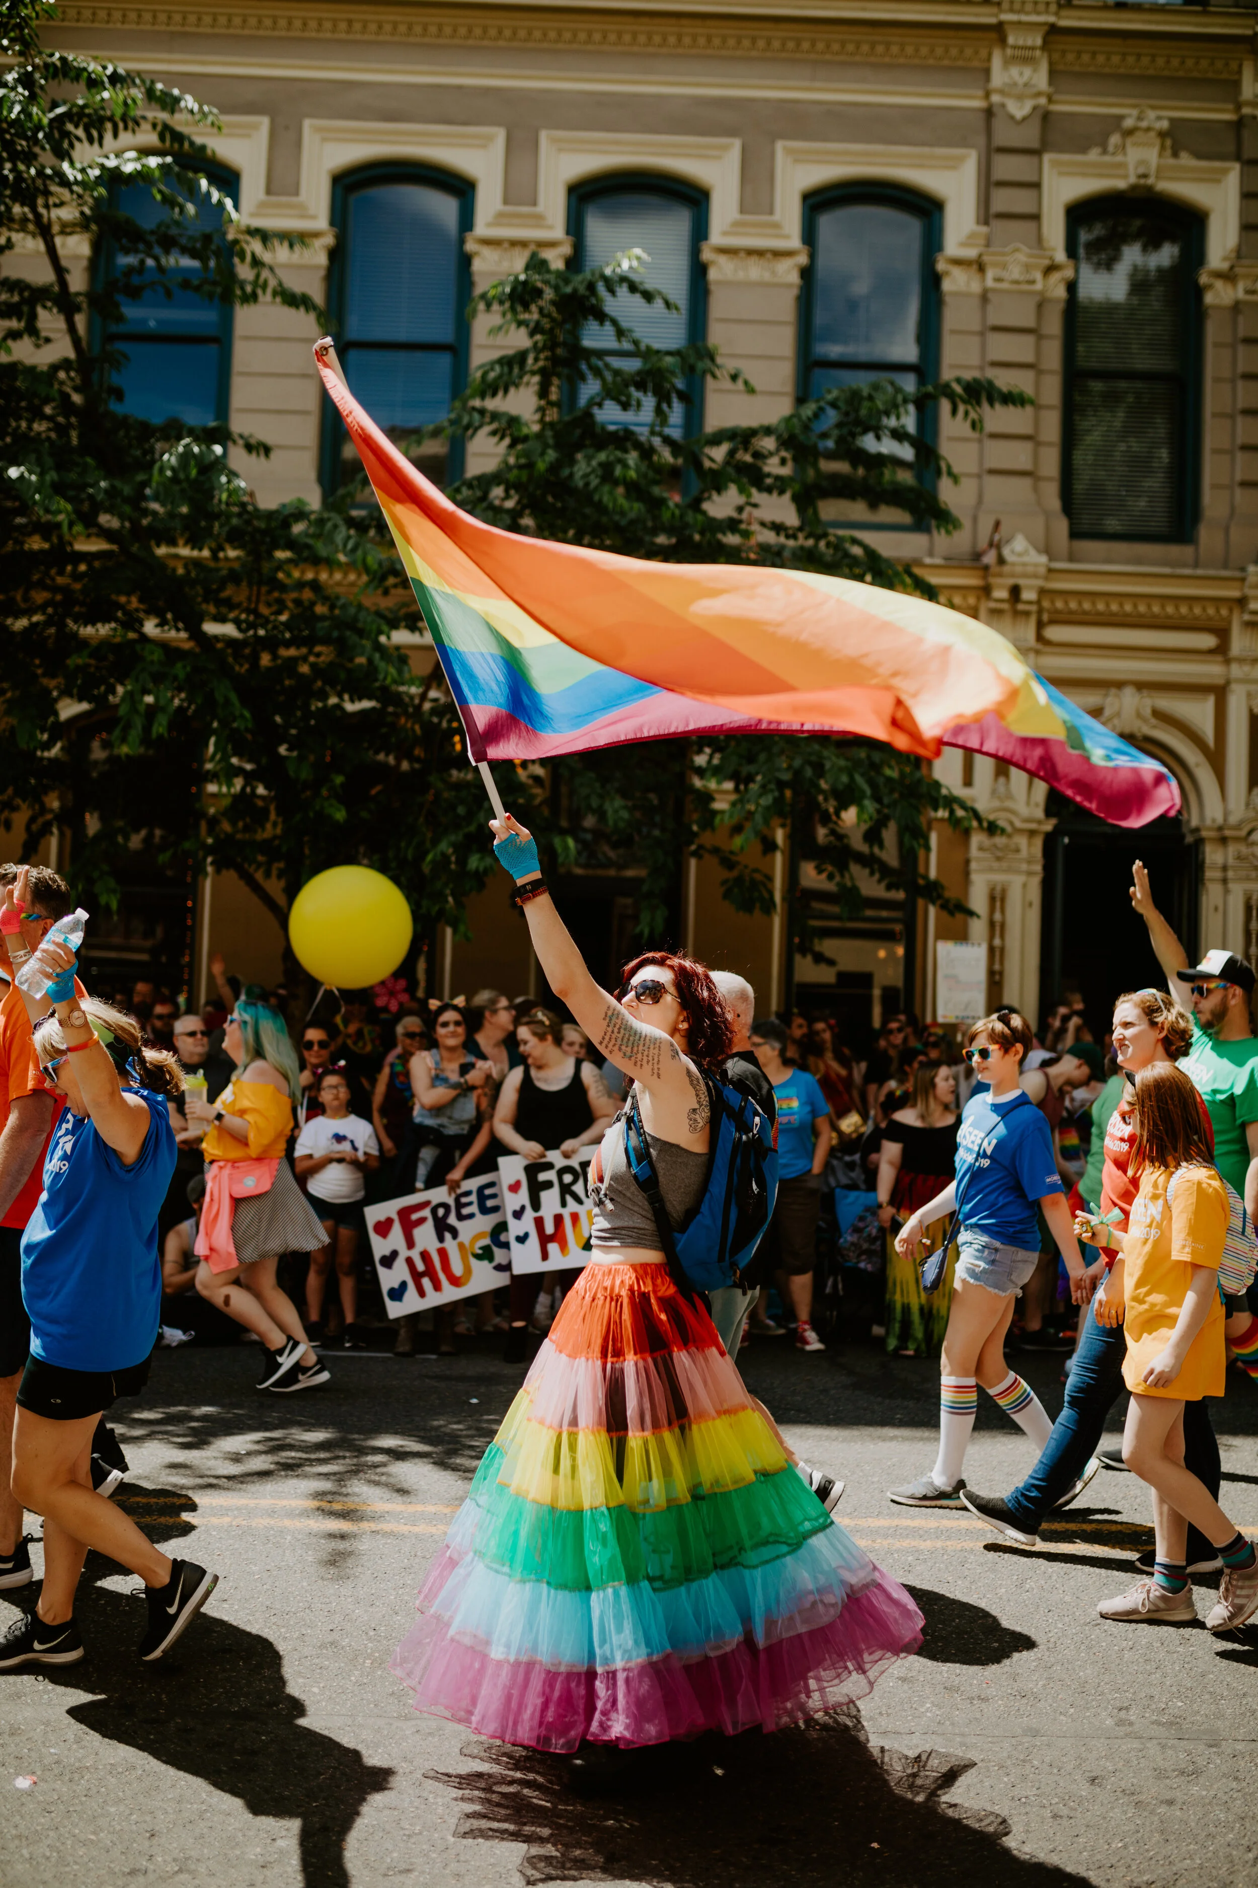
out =
<path fill-rule="evenodd" d="M 438 1186 L 385 1199 L 366 1212 L 375 1276 L 390 1318 L 492 1291 L 511 1273 L 502 1195 L 492 1174 L 468 1180 L 458 1193 Z"/>

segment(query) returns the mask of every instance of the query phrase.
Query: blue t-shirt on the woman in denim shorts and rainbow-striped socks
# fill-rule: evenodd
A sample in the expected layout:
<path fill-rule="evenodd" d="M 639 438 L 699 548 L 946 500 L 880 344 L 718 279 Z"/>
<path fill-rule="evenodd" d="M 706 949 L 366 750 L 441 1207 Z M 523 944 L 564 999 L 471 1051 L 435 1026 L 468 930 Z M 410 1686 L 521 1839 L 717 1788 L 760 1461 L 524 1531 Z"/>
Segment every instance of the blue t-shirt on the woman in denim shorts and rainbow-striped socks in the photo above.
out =
<path fill-rule="evenodd" d="M 1064 1193 L 1052 1135 L 1022 1089 L 992 1101 L 990 1087 L 966 1103 L 956 1135 L 956 1199 L 962 1225 L 1001 1246 L 1039 1252 L 1035 1201 Z"/>

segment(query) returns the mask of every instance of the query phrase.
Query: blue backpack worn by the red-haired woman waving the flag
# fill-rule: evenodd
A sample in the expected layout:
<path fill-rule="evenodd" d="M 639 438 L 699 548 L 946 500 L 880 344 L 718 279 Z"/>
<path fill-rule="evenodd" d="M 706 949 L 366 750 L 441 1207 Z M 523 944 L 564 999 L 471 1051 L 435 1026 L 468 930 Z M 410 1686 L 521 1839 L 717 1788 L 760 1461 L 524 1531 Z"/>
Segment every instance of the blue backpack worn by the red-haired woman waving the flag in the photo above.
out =
<path fill-rule="evenodd" d="M 651 1165 L 636 1091 L 630 1091 L 624 1108 L 624 1159 L 647 1195 L 677 1284 L 719 1291 L 741 1284 L 741 1269 L 751 1263 L 770 1223 L 777 1199 L 777 1148 L 770 1118 L 751 1095 L 707 1074 L 703 1087 L 711 1106 L 707 1182 L 698 1206 L 677 1231 Z"/>

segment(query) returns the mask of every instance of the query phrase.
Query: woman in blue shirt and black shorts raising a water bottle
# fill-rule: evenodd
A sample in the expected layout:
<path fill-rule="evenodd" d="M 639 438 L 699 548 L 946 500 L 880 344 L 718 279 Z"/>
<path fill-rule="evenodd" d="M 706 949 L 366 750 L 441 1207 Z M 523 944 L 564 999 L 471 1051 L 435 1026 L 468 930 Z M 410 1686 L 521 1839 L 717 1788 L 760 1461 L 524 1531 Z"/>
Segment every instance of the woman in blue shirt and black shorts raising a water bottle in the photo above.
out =
<path fill-rule="evenodd" d="M 6 931 L 26 902 L 25 880 L 6 891 Z M 13 955 L 23 952 L 9 946 Z M 47 995 L 23 997 L 40 1069 L 64 1108 L 23 1235 L 30 1359 L 17 1391 L 13 1493 L 43 1516 L 43 1588 L 0 1639 L 0 1671 L 83 1658 L 74 1595 L 89 1546 L 147 1588 L 143 1660 L 174 1644 L 217 1584 L 204 1567 L 160 1554 L 94 1493 L 91 1475 L 102 1412 L 117 1395 L 138 1395 L 149 1374 L 162 1299 L 157 1218 L 175 1171 L 166 1099 L 183 1091 L 183 1076 L 174 1055 L 143 1050 L 134 1016 L 75 993 L 66 944 L 45 938 L 40 957 L 57 976 Z"/>

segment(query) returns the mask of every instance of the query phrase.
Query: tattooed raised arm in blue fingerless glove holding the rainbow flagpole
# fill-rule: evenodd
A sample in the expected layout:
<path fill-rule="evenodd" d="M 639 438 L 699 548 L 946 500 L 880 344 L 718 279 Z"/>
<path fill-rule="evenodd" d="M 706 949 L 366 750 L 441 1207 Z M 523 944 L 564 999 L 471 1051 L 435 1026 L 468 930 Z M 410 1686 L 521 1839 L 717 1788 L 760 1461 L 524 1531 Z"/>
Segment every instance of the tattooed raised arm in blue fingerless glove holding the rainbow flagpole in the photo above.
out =
<path fill-rule="evenodd" d="M 507 814 L 490 819 L 498 861 L 521 889 L 541 880 L 538 848 L 532 834 Z M 549 891 L 524 904 L 528 935 L 538 963 L 560 1003 L 568 1004 L 575 1021 L 596 1042 L 607 1061 L 632 1076 L 651 1099 L 668 1110 L 670 1121 L 656 1123 L 664 1138 L 673 1138 L 670 1127 L 683 1135 L 702 1135 L 707 1129 L 707 1089 L 694 1067 L 662 1029 L 641 1021 L 590 976 L 568 925 L 558 916 Z"/>

